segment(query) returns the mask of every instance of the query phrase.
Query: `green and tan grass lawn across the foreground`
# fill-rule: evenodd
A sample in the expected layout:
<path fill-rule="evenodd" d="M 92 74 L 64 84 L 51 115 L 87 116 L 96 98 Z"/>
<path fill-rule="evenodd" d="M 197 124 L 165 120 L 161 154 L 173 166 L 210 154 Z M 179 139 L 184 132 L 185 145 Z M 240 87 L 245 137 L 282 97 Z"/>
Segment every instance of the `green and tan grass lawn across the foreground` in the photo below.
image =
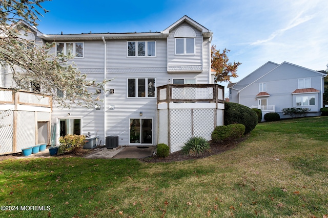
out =
<path fill-rule="evenodd" d="M 0 202 L 18 211 L 0 217 L 324 217 L 327 142 L 328 117 L 310 117 L 258 124 L 235 149 L 193 161 L 6 160 Z"/>

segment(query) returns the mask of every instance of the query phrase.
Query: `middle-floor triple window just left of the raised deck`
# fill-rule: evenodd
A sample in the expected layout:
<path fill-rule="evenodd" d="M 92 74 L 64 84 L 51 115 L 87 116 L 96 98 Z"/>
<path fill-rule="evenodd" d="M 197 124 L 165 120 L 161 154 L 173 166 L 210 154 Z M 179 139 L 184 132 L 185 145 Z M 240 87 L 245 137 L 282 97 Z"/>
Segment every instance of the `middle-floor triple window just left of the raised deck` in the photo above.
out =
<path fill-rule="evenodd" d="M 138 78 L 128 79 L 129 98 L 152 98 L 155 97 L 155 79 Z"/>

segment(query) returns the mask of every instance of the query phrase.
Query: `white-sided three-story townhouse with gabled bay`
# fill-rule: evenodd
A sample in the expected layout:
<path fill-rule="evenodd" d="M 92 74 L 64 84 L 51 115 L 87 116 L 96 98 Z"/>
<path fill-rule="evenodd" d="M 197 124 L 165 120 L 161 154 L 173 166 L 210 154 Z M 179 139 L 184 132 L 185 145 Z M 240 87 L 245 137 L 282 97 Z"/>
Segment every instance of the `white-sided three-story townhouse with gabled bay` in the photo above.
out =
<path fill-rule="evenodd" d="M 46 35 L 36 29 L 33 32 L 30 37 L 38 43 L 56 42 L 50 51 L 54 55 L 74 54 L 72 61 L 88 80 L 112 79 L 105 93 L 99 93 L 103 100 L 100 107 L 67 109 L 57 107 L 54 102 L 51 121 L 56 124 L 56 130 L 52 129 L 56 139 L 66 134 L 91 133 L 99 137 L 101 144 L 105 144 L 106 136 L 118 136 L 119 145 L 156 145 L 159 131 L 156 87 L 213 84 L 210 71 L 213 33 L 188 16 L 161 32 L 60 35 Z M 10 78 L 1 78 L 2 86 L 11 86 Z M 220 95 L 222 100 L 223 96 Z M 222 125 L 222 120 L 215 124 Z"/>

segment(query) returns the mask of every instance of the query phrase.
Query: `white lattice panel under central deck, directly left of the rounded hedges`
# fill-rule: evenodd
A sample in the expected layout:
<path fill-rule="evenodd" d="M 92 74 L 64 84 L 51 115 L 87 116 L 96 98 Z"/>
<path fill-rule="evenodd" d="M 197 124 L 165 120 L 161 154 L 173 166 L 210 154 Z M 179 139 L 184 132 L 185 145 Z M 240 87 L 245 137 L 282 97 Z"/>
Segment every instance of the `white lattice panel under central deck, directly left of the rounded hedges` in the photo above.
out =
<path fill-rule="evenodd" d="M 214 130 L 215 109 L 194 109 L 194 136 L 201 136 L 207 140 L 212 139 Z"/>

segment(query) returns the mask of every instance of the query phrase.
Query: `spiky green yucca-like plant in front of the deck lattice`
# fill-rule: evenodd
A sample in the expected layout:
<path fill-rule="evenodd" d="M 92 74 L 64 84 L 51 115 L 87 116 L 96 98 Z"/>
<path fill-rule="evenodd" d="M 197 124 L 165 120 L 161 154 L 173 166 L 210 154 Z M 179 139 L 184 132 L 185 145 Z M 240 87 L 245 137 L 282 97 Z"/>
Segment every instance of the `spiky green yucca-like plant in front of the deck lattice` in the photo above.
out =
<path fill-rule="evenodd" d="M 203 137 L 191 137 L 182 147 L 182 153 L 200 155 L 210 149 L 210 143 Z"/>

